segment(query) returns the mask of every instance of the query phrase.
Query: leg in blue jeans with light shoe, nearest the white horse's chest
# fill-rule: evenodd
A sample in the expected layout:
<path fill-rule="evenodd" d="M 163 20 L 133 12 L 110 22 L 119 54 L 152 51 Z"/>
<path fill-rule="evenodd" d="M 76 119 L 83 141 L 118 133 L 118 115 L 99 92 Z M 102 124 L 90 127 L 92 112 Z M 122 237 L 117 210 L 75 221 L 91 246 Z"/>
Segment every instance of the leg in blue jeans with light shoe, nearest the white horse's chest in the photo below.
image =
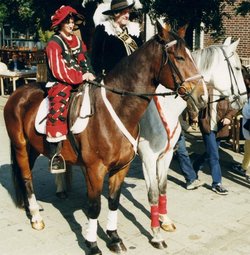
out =
<path fill-rule="evenodd" d="M 197 173 L 193 168 L 186 148 L 186 140 L 183 132 L 180 134 L 179 140 L 177 142 L 177 150 L 175 153 L 178 158 L 183 176 L 186 180 L 186 189 L 193 190 L 202 186 L 204 183 L 198 179 Z"/>

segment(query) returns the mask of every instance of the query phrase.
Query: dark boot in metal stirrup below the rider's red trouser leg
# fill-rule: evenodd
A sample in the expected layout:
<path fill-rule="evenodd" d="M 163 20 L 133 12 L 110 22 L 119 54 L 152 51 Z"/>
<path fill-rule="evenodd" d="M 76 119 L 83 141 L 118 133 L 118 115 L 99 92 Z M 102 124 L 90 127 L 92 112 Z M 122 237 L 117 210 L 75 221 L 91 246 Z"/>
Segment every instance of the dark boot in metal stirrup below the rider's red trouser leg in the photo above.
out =
<path fill-rule="evenodd" d="M 52 174 L 64 173 L 66 171 L 65 160 L 60 154 L 61 146 L 61 142 L 49 143 L 49 171 Z"/>

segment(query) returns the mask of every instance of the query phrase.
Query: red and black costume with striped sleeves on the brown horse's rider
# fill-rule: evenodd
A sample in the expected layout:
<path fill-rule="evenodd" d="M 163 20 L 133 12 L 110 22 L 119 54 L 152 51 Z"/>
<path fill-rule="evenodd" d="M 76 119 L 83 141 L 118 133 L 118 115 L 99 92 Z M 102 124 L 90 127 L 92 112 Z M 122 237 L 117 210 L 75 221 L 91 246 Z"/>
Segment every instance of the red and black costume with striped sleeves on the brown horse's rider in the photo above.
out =
<path fill-rule="evenodd" d="M 70 90 L 72 86 L 83 82 L 82 75 L 85 72 L 92 71 L 85 53 L 85 44 L 75 35 L 72 40 L 67 40 L 62 35 L 54 35 L 47 44 L 47 87 L 50 101 L 46 125 L 48 138 L 65 136 L 68 132 Z"/>

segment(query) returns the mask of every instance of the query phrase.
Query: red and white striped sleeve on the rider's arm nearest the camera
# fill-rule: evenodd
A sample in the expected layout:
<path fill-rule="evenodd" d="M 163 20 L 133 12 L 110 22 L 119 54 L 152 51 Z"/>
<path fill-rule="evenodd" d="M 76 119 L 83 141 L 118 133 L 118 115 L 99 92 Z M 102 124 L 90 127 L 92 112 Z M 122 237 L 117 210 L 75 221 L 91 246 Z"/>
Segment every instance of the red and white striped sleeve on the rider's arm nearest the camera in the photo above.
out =
<path fill-rule="evenodd" d="M 72 67 L 68 67 L 62 56 L 60 45 L 51 40 L 46 47 L 49 68 L 53 76 L 61 82 L 76 85 L 83 82 L 82 72 Z"/>

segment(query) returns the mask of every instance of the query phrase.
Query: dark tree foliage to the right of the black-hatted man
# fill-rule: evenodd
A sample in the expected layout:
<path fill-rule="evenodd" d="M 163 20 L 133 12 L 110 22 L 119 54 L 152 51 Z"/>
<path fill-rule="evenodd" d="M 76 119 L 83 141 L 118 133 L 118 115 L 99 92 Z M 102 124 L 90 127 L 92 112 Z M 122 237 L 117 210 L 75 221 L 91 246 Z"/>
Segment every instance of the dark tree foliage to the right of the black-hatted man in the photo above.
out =
<path fill-rule="evenodd" d="M 205 30 L 215 35 L 223 33 L 223 18 L 229 18 L 225 12 L 226 4 L 233 5 L 235 0 L 141 0 L 144 11 L 151 17 L 163 17 L 172 27 L 189 24 L 192 28 L 204 24 Z"/>

